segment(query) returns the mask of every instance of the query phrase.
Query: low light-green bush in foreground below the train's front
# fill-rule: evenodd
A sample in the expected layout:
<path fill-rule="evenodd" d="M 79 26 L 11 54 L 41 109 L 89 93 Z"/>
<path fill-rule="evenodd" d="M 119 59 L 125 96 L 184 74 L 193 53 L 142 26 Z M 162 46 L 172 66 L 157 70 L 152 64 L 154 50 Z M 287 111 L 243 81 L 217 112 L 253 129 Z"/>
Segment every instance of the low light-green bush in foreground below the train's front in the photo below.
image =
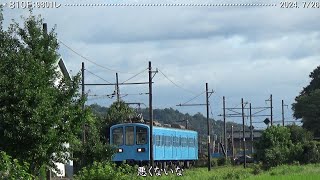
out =
<path fill-rule="evenodd" d="M 127 164 L 116 166 L 111 162 L 94 162 L 92 166 L 84 167 L 77 175 L 76 180 L 100 180 L 100 179 L 116 179 L 126 180 L 132 179 L 131 176 L 136 173 L 136 168 Z"/>

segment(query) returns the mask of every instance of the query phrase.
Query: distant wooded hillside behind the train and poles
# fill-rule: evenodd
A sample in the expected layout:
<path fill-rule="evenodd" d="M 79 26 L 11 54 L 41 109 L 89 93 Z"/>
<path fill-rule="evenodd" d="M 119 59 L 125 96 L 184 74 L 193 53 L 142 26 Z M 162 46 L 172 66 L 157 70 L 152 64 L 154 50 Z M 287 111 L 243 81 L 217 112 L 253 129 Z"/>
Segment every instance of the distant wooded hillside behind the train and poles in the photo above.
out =
<path fill-rule="evenodd" d="M 105 117 L 108 108 L 103 107 L 97 104 L 92 104 L 92 111 L 99 117 Z M 141 109 L 138 113 L 142 113 L 143 118 L 149 119 L 149 109 Z M 184 120 L 188 120 L 188 129 L 196 130 L 199 134 L 206 135 L 207 134 L 207 118 L 203 116 L 201 113 L 197 113 L 195 115 L 190 115 L 188 113 L 183 114 L 178 110 L 174 110 L 172 108 L 165 109 L 154 109 L 153 110 L 153 119 L 155 121 L 159 121 L 162 124 L 180 124 L 186 126 L 186 122 Z M 216 121 L 214 119 L 209 119 L 211 134 L 217 134 L 218 137 L 223 133 L 223 121 Z M 231 125 L 234 126 L 235 130 L 239 130 L 242 128 L 241 124 L 236 123 L 227 123 L 227 131 L 231 129 Z M 246 127 L 247 128 L 247 127 Z"/>

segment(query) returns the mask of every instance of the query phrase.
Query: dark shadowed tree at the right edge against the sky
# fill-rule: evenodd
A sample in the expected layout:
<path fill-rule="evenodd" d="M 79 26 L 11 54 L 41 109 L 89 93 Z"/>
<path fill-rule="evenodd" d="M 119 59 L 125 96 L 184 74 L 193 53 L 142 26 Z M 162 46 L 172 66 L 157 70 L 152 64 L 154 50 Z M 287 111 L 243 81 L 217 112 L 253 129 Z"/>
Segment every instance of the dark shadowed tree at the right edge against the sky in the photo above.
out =
<path fill-rule="evenodd" d="M 303 88 L 292 104 L 294 117 L 302 119 L 304 128 L 320 136 L 320 66 L 310 73 L 310 84 Z"/>

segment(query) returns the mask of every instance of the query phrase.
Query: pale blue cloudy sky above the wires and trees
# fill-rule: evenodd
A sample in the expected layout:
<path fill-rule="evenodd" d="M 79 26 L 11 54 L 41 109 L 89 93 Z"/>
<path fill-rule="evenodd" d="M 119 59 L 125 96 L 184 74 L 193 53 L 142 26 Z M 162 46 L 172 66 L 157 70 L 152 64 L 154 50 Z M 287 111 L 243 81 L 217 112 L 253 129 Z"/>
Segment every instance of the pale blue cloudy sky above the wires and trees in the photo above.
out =
<path fill-rule="evenodd" d="M 5 27 L 11 19 L 21 22 L 21 15 L 29 15 L 28 9 L 23 9 L 26 1 L 10 8 L 12 2 L 0 1 L 5 4 Z M 241 98 L 252 107 L 269 107 L 266 100 L 272 94 L 274 121 L 281 120 L 281 100 L 288 105 L 285 119 L 292 121 L 291 104 L 320 64 L 316 4 L 298 1 L 288 4 L 294 8 L 283 8 L 282 2 L 275 0 L 51 2 L 59 7 L 38 8 L 32 3 L 33 14 L 40 14 L 49 29 L 55 27 L 58 52 L 70 74 L 80 72 L 84 62 L 85 83 L 115 83 L 116 72 L 120 83 L 147 82 L 151 61 L 152 69 L 158 69 L 153 77 L 153 108 L 206 115 L 205 106 L 176 105 L 198 95 L 188 104 L 205 103 L 208 83 L 209 91 L 214 92 L 209 99 L 211 118 L 222 119 L 223 96 L 227 108 L 240 108 Z M 112 5 L 115 3 L 126 6 Z M 107 96 L 114 86 L 86 86 L 85 90 L 87 104 L 109 106 L 116 101 Z M 122 85 L 120 93 L 126 102 L 148 106 L 147 84 Z M 269 115 L 270 109 L 258 114 Z M 265 118 L 253 118 L 256 129 L 266 127 L 261 123 Z M 227 121 L 240 123 L 241 118 Z"/>

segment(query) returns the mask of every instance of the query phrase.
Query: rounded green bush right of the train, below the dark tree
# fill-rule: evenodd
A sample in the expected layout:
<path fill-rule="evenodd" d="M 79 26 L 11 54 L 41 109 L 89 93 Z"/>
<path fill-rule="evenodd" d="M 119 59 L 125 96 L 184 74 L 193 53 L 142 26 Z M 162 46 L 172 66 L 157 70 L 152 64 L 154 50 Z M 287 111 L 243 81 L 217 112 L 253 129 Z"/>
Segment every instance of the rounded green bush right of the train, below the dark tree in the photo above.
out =
<path fill-rule="evenodd" d="M 257 157 L 266 167 L 285 163 L 320 162 L 320 144 L 300 126 L 271 126 L 256 143 Z"/>

